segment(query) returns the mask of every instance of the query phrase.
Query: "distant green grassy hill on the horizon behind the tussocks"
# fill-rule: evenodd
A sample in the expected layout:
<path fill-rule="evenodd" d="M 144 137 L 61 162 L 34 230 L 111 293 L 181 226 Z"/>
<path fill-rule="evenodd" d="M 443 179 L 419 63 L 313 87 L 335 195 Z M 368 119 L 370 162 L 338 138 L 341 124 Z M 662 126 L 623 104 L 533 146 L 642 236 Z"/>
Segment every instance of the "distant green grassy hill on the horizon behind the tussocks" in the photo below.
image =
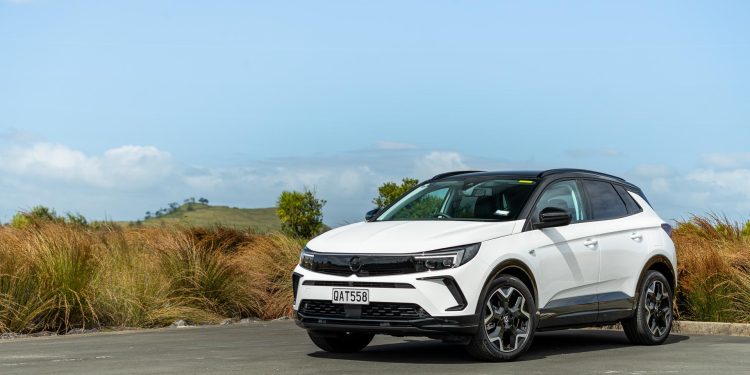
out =
<path fill-rule="evenodd" d="M 269 232 L 281 229 L 276 208 L 237 208 L 187 203 L 174 212 L 145 220 L 143 225 L 181 224 L 210 227 L 217 224 L 236 229 L 253 229 Z"/>

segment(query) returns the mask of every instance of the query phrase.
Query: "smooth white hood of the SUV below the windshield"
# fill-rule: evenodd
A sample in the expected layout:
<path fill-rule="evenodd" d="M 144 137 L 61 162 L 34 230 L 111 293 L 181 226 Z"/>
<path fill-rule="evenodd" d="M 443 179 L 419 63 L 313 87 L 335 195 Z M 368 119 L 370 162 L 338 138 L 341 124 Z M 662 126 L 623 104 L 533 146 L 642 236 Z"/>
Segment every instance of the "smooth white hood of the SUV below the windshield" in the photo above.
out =
<path fill-rule="evenodd" d="M 327 253 L 416 253 L 507 236 L 513 233 L 516 223 L 518 221 L 361 222 L 323 233 L 307 247 Z"/>

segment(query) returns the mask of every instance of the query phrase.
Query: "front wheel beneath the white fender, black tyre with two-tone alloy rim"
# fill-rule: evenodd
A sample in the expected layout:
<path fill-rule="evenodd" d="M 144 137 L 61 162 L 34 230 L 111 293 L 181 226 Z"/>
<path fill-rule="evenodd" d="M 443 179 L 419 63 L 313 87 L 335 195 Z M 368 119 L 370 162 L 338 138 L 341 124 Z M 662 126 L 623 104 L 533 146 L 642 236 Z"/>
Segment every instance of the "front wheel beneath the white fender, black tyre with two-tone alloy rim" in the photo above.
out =
<path fill-rule="evenodd" d="M 537 326 L 536 302 L 529 288 L 516 277 L 502 275 L 490 284 L 480 303 L 480 326 L 467 352 L 491 362 L 512 361 L 525 353 Z"/>

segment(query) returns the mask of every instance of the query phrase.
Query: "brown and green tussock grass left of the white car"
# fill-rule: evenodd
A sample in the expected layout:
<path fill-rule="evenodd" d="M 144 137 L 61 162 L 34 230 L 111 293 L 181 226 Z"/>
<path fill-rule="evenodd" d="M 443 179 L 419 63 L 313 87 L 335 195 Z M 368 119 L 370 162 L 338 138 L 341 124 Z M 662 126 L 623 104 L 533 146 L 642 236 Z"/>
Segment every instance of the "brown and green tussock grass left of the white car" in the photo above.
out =
<path fill-rule="evenodd" d="M 301 248 L 227 228 L 0 227 L 0 331 L 288 315 Z"/>

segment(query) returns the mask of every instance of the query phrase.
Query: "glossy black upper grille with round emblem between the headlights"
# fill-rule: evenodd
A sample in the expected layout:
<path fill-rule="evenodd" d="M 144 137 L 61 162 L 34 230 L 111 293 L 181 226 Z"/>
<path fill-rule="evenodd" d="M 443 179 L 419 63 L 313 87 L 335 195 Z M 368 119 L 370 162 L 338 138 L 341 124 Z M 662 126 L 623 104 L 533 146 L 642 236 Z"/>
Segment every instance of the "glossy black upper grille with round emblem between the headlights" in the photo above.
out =
<path fill-rule="evenodd" d="M 361 268 L 352 270 L 353 258 L 358 258 Z M 425 271 L 411 255 L 353 255 L 316 253 L 310 269 L 315 272 L 338 276 L 385 276 L 402 275 Z"/>

